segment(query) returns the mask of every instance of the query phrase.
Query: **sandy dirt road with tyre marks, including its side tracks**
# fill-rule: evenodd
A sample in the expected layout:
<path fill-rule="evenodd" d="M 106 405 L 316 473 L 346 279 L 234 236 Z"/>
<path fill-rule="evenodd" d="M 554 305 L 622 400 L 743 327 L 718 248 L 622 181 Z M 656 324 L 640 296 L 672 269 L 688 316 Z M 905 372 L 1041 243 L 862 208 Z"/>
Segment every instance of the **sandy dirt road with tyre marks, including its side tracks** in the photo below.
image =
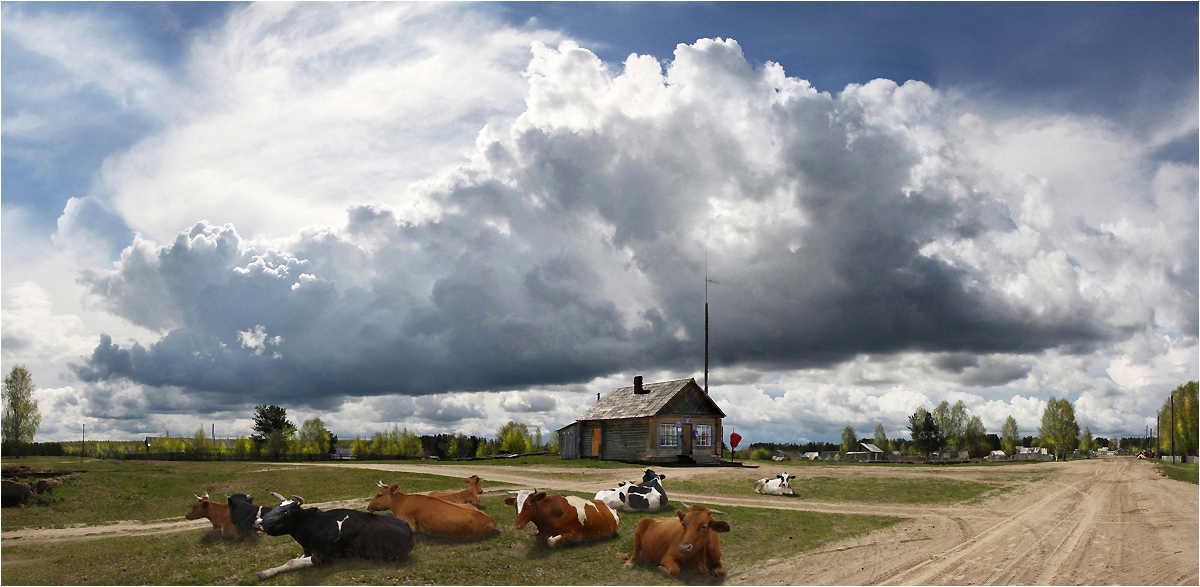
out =
<path fill-rule="evenodd" d="M 464 465 L 313 465 L 468 477 L 551 491 L 598 491 L 640 477 L 638 467 L 479 467 Z M 947 507 L 864 505 L 757 496 L 754 479 L 788 471 L 814 477 L 900 477 L 1000 483 L 1009 491 L 979 503 Z M 824 513 L 877 514 L 905 520 L 817 552 L 780 552 L 754 568 L 731 568 L 728 585 L 1198 585 L 1200 490 L 1164 479 L 1145 461 L 1098 459 L 1008 467 L 671 467 L 664 485 L 672 501 Z M 746 479 L 745 496 L 671 491 L 671 480 Z M 366 497 L 314 504 L 364 508 Z M 86 540 L 197 531 L 206 520 L 120 522 L 61 529 L 5 532 L 8 544 Z M 734 529 L 736 531 L 736 529 Z M 11 540 L 11 541 L 10 541 Z"/>

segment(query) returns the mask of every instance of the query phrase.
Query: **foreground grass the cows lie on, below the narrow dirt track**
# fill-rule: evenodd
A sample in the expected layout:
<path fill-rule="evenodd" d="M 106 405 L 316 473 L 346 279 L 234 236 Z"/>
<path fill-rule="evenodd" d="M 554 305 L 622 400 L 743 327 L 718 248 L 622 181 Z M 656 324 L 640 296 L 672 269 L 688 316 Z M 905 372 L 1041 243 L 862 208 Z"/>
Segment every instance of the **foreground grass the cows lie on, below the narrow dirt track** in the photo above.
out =
<path fill-rule="evenodd" d="M 307 471 L 307 469 L 306 469 Z M 295 474 L 295 473 L 293 473 Z M 299 485 L 294 480 L 293 485 Z M 590 497 L 576 493 L 581 497 Z M 480 541 L 419 537 L 401 563 L 342 561 L 263 581 L 266 585 L 718 585 L 707 576 L 668 577 L 655 568 L 622 568 L 620 553 L 634 547 L 642 517 L 622 514 L 617 538 L 557 550 L 529 539 L 533 526 L 514 529 L 514 508 L 503 496 L 484 497 L 485 511 L 499 532 Z M 732 531 L 721 537 L 726 569 L 744 569 L 767 558 L 812 551 L 862 535 L 900 519 L 868 515 L 720 507 Z M 2 547 L 5 585 L 256 585 L 254 571 L 300 555 L 289 537 L 245 544 L 208 529 L 152 537 L 10 545 Z"/>

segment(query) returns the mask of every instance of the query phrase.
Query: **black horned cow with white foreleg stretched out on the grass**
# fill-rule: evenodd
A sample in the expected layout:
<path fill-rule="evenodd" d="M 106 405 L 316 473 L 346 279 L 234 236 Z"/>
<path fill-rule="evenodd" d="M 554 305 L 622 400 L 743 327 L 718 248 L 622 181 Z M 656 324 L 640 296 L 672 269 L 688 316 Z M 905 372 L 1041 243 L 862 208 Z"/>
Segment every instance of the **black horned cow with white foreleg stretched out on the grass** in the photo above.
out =
<path fill-rule="evenodd" d="M 304 556 L 254 575 L 269 579 L 280 573 L 319 567 L 338 558 L 400 561 L 413 550 L 413 528 L 389 515 L 374 515 L 353 509 L 301 508 L 304 498 L 284 499 L 271 493 L 280 504 L 263 514 L 256 526 L 272 537 L 290 534 L 304 547 Z"/>

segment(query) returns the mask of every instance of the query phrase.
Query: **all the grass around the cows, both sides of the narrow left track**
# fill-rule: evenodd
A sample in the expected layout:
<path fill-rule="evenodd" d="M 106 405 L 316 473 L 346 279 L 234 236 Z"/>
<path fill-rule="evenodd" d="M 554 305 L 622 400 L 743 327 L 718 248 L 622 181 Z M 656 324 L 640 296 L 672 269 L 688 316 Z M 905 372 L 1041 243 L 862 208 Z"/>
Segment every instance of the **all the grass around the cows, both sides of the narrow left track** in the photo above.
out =
<path fill-rule="evenodd" d="M 64 462 L 67 461 L 67 462 Z M 311 502 L 367 497 L 378 471 L 295 467 L 272 463 L 74 461 L 22 459 L 40 468 L 88 471 L 55 490 L 54 503 L 8 508 L 4 528 L 55 527 L 115 520 L 181 519 L 192 493 L 232 492 L 264 496 L 274 490 Z M 408 491 L 449 489 L 457 478 L 388 473 L 388 483 Z M 492 485 L 492 484 L 487 484 Z M 457 489 L 457 487 L 455 487 Z M 744 487 L 742 490 L 744 493 Z M 576 493 L 581 497 L 590 495 Z M 532 527 L 512 528 L 515 513 L 503 496 L 486 496 L 484 509 L 499 525 L 497 535 L 479 541 L 419 538 L 410 557 L 398 564 L 340 562 L 323 569 L 280 575 L 278 585 L 678 585 L 679 579 L 648 567 L 622 568 L 619 553 L 632 550 L 632 531 L 648 514 L 623 514 L 620 535 L 550 550 L 529 539 Z M 218 498 L 218 499 L 223 499 Z M 270 503 L 270 499 L 258 499 Z M 733 531 L 721 535 L 728 569 L 786 556 L 864 534 L 899 519 L 721 507 Z M 653 516 L 670 515 L 666 511 Z M 257 583 L 253 573 L 299 556 L 289 537 L 242 544 L 209 529 L 151 537 L 2 546 L 4 585 L 241 585 Z M 684 582 L 713 583 L 704 577 Z"/>

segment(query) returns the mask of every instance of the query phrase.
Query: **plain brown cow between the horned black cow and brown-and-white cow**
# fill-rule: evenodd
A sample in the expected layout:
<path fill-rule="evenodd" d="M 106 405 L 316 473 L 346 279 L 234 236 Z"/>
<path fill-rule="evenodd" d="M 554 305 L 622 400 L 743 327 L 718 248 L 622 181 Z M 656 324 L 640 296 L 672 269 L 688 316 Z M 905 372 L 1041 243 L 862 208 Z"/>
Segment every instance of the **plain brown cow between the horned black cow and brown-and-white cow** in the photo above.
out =
<path fill-rule="evenodd" d="M 478 509 L 448 503 L 420 493 L 402 493 L 398 485 L 379 481 L 379 492 L 367 504 L 368 511 L 391 510 L 415 532 L 434 537 L 478 538 L 496 531 L 496 520 Z"/>

